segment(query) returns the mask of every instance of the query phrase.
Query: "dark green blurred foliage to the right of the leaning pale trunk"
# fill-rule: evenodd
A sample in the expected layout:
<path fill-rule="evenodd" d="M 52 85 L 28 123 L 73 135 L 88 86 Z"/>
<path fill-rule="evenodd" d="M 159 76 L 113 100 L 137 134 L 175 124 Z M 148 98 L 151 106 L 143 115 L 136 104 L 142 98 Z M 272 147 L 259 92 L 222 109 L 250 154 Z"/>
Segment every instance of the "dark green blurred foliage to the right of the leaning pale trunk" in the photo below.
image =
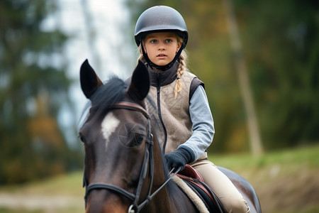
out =
<path fill-rule="evenodd" d="M 268 148 L 318 141 L 318 6 L 315 1 L 237 1 Z"/>

